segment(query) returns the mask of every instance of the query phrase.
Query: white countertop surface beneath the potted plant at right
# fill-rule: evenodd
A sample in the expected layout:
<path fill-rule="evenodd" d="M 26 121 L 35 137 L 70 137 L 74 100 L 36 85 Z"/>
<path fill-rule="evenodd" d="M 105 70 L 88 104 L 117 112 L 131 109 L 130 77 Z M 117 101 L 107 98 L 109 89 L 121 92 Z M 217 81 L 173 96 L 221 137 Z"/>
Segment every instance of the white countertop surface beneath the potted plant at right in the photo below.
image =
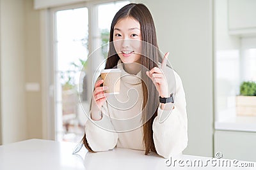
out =
<path fill-rule="evenodd" d="M 215 122 L 216 130 L 256 132 L 256 117 L 234 117 Z"/>

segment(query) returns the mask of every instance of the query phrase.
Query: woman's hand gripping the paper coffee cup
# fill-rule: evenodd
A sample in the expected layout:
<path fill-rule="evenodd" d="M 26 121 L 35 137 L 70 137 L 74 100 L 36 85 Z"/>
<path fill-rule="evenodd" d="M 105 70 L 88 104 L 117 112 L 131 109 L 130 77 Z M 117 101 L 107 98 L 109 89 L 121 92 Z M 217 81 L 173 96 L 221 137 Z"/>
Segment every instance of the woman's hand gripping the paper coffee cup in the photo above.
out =
<path fill-rule="evenodd" d="M 102 115 L 100 113 L 101 107 L 106 101 L 106 97 L 108 94 L 104 93 L 104 90 L 108 90 L 108 86 L 100 87 L 104 80 L 98 80 L 95 83 L 95 89 L 93 91 L 93 99 L 92 99 L 92 119 L 100 120 Z"/>

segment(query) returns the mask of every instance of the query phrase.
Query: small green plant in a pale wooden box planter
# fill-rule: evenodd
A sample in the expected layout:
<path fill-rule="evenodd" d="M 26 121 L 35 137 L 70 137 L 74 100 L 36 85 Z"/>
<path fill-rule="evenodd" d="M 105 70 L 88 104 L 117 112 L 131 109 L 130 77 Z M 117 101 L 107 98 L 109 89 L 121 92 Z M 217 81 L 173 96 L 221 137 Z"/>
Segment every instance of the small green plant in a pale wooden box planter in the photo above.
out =
<path fill-rule="evenodd" d="M 236 112 L 239 116 L 256 116 L 256 83 L 243 81 L 240 95 L 236 96 Z"/>

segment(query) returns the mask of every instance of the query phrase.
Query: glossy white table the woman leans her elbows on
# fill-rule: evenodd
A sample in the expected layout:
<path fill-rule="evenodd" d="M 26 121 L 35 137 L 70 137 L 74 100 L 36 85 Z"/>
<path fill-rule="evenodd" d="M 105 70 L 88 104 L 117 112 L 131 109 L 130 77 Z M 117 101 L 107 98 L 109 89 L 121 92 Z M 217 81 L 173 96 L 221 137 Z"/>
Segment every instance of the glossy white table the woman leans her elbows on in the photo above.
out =
<path fill-rule="evenodd" d="M 166 166 L 167 159 L 154 153 L 144 155 L 143 151 L 124 148 L 115 148 L 108 152 L 88 153 L 83 147 L 78 154 L 72 155 L 75 146 L 75 143 L 42 139 L 29 139 L 3 145 L 0 146 L 0 169 L 202 169 L 198 166 L 188 167 L 188 164 L 195 160 L 204 162 L 203 165 L 206 165 L 207 160 L 223 160 L 179 155 L 172 158 L 172 165 L 167 162 L 170 166 Z M 176 160 L 175 166 L 173 166 L 174 160 Z M 178 164 L 179 160 L 184 162 Z M 188 164 L 185 163 L 186 161 Z M 256 169 L 256 163 L 239 161 L 237 165 L 241 165 L 241 163 L 250 163 L 254 167 L 235 168 L 218 166 L 218 164 L 214 167 L 208 164 L 204 169 Z M 180 167 L 182 165 L 184 167 Z"/>

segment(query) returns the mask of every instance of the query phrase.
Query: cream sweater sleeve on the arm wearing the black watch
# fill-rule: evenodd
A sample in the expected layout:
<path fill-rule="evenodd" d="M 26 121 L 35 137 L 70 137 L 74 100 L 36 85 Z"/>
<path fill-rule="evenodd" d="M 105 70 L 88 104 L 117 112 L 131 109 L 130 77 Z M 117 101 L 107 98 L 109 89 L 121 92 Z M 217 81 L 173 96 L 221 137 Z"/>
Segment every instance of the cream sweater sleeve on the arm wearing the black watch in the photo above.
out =
<path fill-rule="evenodd" d="M 152 127 L 156 151 L 166 159 L 182 153 L 188 145 L 186 98 L 182 81 L 177 73 L 174 74 L 176 80 L 174 108 L 170 111 L 161 110 L 159 107 Z"/>

